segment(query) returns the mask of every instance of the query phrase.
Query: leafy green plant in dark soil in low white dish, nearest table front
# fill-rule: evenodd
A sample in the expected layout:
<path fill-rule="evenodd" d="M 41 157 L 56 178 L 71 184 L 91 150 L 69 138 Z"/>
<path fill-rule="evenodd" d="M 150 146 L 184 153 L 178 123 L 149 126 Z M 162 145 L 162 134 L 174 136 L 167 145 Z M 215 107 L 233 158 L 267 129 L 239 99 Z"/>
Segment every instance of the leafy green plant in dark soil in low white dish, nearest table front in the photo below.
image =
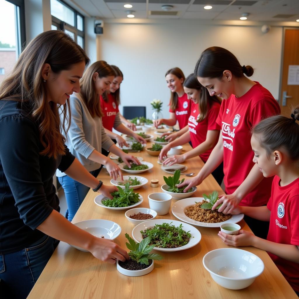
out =
<path fill-rule="evenodd" d="M 116 261 L 117 270 L 127 276 L 142 276 L 148 274 L 154 269 L 154 260 L 161 260 L 163 257 L 157 253 L 150 253 L 155 245 L 149 245 L 150 238 L 143 239 L 140 243 L 136 243 L 128 234 L 125 234 L 129 243 L 126 242 L 127 248 L 130 250 L 130 259 L 121 262 Z"/>

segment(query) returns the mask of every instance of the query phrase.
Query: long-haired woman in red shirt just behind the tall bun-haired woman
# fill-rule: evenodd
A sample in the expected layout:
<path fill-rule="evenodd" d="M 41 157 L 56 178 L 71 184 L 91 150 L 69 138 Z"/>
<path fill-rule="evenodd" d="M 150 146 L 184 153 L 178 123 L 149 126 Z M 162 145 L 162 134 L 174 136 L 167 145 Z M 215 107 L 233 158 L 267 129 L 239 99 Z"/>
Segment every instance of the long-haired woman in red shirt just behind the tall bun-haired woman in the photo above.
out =
<path fill-rule="evenodd" d="M 188 120 L 188 131 L 165 145 L 161 150 L 159 159 L 162 161 L 165 156 L 167 157 L 170 148 L 189 141 L 192 141 L 194 148 L 182 155 L 173 155 L 167 158 L 163 164 L 182 163 L 197 155 L 206 162 L 219 138 L 220 126 L 216 123 L 221 103 L 219 98 L 216 95 L 210 96 L 208 90 L 198 82 L 194 74 L 190 74 L 184 81 L 184 91 L 188 99 L 193 102 Z M 212 172 L 212 175 L 220 185 L 224 176 L 223 163 Z"/>

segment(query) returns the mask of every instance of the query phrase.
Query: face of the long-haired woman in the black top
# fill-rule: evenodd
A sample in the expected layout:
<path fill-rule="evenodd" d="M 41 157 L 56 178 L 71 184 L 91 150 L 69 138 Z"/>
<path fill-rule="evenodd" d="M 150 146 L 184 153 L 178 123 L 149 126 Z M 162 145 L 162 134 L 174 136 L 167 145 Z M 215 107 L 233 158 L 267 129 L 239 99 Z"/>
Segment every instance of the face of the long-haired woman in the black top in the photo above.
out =
<path fill-rule="evenodd" d="M 47 89 L 48 101 L 64 105 L 73 92 L 80 92 L 79 80 L 83 76 L 85 62 L 81 61 L 74 64 L 69 70 L 61 71 L 55 74 L 50 65 L 43 67 L 43 79 Z M 45 68 L 45 70 L 44 70 Z"/>

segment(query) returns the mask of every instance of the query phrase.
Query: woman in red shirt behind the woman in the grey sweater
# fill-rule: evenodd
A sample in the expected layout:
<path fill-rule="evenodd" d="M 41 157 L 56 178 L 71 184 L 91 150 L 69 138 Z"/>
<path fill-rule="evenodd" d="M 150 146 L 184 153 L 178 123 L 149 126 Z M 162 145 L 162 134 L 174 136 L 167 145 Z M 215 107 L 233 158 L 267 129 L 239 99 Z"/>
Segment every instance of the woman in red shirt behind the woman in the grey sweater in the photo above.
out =
<path fill-rule="evenodd" d="M 113 133 L 112 128 L 114 128 L 118 132 L 132 136 L 135 140 L 141 143 L 146 143 L 144 138 L 132 132 L 130 129 L 126 128 L 122 124 L 122 120 L 120 119 L 121 115 L 118 110 L 118 105 L 120 104 L 119 88 L 120 83 L 123 81 L 123 73 L 117 66 L 111 65 L 111 67 L 114 69 L 116 76 L 110 84 L 109 90 L 107 90 L 106 93 L 100 96 L 101 110 L 103 112 L 102 122 L 105 128 L 105 132 L 112 140 L 116 140 L 120 147 L 128 146 L 128 144 L 120 135 Z M 127 125 L 130 125 L 129 121 L 126 120 L 126 122 Z M 106 153 L 108 154 L 108 152 L 103 151 L 104 155 Z"/>

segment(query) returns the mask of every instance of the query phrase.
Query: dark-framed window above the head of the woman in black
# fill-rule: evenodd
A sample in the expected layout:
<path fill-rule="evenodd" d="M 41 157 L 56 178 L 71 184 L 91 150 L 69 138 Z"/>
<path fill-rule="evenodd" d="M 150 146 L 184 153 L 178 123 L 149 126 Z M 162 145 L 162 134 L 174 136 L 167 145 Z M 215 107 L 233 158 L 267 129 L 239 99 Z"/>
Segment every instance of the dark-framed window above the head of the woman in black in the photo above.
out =
<path fill-rule="evenodd" d="M 61 0 L 51 0 L 51 15 L 51 29 L 62 29 L 84 49 L 84 17 Z"/>

